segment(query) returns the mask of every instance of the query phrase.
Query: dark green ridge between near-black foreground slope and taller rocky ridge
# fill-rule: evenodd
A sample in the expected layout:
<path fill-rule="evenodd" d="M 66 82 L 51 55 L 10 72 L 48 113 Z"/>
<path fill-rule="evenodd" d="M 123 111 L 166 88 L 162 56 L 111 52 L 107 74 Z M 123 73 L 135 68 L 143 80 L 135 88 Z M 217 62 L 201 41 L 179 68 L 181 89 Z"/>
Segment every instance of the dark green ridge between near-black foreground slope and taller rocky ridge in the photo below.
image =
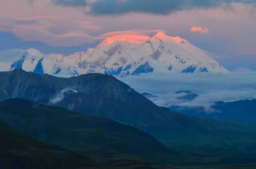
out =
<path fill-rule="evenodd" d="M 160 154 L 177 154 L 131 126 L 28 100 L 0 102 L 0 121 L 38 140 L 86 155 L 88 149 L 101 150 L 102 155 L 105 150 L 112 150 L 155 160 Z"/>

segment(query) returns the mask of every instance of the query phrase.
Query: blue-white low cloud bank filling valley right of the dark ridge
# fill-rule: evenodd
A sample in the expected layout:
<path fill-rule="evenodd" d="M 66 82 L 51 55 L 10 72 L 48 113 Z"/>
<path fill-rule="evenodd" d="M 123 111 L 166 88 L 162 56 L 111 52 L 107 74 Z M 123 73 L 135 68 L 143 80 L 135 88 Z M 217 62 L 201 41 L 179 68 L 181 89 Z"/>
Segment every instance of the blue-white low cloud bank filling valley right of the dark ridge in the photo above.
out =
<path fill-rule="evenodd" d="M 256 72 L 213 74 L 145 74 L 119 78 L 137 92 L 148 92 L 157 97 L 149 98 L 159 106 L 202 106 L 207 113 L 218 101 L 256 99 Z M 198 94 L 194 100 L 177 98 L 180 90 Z"/>

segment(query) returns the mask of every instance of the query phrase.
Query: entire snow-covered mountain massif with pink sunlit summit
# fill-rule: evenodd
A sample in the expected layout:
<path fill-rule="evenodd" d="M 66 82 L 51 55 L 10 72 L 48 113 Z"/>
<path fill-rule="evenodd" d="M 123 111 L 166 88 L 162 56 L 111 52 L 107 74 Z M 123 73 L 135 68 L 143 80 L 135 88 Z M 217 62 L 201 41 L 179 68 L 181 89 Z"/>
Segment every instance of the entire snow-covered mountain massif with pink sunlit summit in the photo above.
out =
<path fill-rule="evenodd" d="M 0 72 L 13 69 L 38 74 L 113 75 L 149 72 L 229 72 L 204 51 L 180 37 L 158 32 L 153 37 L 115 35 L 95 48 L 70 56 L 42 54 L 36 49 L 0 52 Z"/>

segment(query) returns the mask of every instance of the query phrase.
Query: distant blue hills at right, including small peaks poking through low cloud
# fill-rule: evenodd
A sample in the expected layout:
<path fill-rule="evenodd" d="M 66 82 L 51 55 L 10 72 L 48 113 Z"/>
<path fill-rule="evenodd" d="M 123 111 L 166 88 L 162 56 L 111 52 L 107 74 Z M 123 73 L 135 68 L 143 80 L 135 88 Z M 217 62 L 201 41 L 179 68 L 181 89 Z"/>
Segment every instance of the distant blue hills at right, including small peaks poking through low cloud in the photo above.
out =
<path fill-rule="evenodd" d="M 155 100 L 157 97 L 147 92 L 141 93 L 141 95 L 149 100 Z M 175 92 L 175 95 L 177 95 L 177 99 L 188 103 L 198 97 L 198 94 L 190 91 L 178 91 Z M 205 109 L 203 106 L 169 106 L 169 109 L 172 109 L 175 112 L 193 117 L 256 123 L 255 99 L 237 100 L 233 102 L 218 101 L 212 103 L 210 108 L 212 111 L 209 112 L 209 109 Z"/>

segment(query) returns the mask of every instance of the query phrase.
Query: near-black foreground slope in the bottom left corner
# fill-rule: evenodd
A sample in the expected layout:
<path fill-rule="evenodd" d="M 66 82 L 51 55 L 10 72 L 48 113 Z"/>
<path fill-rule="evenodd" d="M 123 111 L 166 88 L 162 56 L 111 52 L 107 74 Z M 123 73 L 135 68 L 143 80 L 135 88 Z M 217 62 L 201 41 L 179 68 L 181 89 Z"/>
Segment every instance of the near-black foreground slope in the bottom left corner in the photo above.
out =
<path fill-rule="evenodd" d="M 96 161 L 51 146 L 0 123 L 1 169 L 103 169 Z"/>

